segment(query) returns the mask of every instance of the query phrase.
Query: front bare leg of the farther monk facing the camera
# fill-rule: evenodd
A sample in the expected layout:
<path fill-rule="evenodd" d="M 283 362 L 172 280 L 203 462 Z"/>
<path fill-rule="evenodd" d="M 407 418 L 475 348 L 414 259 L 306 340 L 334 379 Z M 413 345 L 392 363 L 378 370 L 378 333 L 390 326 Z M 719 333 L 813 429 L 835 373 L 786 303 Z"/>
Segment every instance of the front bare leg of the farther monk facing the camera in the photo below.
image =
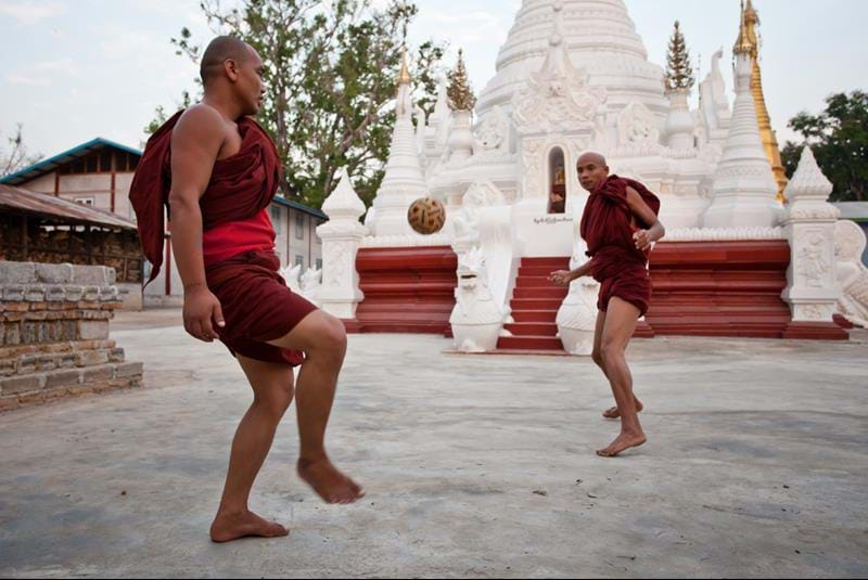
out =
<path fill-rule="evenodd" d="M 639 309 L 631 304 L 617 297 L 612 297 L 609 301 L 600 352 L 612 394 L 621 411 L 621 435 L 609 447 L 597 451 L 598 455 L 604 457 L 613 457 L 646 442 L 633 395 L 633 376 L 625 358 L 638 320 Z"/>

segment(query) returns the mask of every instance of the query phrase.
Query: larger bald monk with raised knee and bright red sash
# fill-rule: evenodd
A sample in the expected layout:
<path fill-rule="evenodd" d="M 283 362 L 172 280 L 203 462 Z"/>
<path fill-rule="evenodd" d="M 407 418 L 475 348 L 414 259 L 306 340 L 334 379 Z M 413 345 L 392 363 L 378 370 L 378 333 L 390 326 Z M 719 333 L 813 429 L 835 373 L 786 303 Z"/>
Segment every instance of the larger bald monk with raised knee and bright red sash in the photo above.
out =
<path fill-rule="evenodd" d="M 221 340 L 253 388 L 232 441 L 229 473 L 210 538 L 279 537 L 289 531 L 247 507 L 251 488 L 293 399 L 297 473 L 328 503 L 363 493 L 326 453 L 324 435 L 346 351 L 340 320 L 293 294 L 278 275 L 268 206 L 280 177 L 273 142 L 251 118 L 265 92 L 263 62 L 248 44 L 216 38 L 201 66 L 204 99 L 179 112 L 148 142 L 130 191 L 153 280 L 163 262 L 163 208 L 183 281 L 183 325 L 199 340 Z"/>

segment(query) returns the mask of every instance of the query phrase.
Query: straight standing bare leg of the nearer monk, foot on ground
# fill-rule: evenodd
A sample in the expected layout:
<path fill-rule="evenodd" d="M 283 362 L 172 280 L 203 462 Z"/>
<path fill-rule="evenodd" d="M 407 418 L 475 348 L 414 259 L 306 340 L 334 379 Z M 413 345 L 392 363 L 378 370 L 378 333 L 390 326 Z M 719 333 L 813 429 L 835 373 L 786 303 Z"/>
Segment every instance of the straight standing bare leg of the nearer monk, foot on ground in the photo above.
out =
<path fill-rule="evenodd" d="M 275 439 L 280 420 L 292 402 L 292 370 L 239 356 L 239 362 L 253 387 L 253 404 L 238 426 L 229 457 L 229 472 L 220 508 L 210 528 L 215 542 L 246 536 L 275 538 L 289 530 L 267 521 L 247 508 L 251 489 Z"/>

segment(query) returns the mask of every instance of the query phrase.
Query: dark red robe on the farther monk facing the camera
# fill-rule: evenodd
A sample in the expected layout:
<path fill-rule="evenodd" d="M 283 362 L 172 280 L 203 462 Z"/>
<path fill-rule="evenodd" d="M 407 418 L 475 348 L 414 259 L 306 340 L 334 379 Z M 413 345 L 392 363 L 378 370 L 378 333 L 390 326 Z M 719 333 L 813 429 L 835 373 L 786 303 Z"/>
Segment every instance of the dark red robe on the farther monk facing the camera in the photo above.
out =
<path fill-rule="evenodd" d="M 631 179 L 610 176 L 588 197 L 582 215 L 582 237 L 588 244 L 591 275 L 600 283 L 598 308 L 605 312 L 612 296 L 636 306 L 644 315 L 651 299 L 648 274 L 649 252 L 636 247 L 633 234 L 651 223 L 641 223 L 627 205 L 627 186 L 636 190 L 646 204 L 660 214 L 660 199 Z"/>

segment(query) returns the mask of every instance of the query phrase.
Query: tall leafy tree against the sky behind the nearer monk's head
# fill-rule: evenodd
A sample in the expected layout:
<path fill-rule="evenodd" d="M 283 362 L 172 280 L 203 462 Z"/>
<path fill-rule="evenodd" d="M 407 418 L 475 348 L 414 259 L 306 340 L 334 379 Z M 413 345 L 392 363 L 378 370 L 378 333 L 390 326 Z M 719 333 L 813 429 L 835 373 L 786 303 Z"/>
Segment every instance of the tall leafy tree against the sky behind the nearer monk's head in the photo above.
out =
<path fill-rule="evenodd" d="M 224 10 L 218 0 L 203 0 L 201 7 L 215 33 L 241 38 L 265 63 L 267 93 L 257 120 L 283 160 L 282 193 L 320 207 L 346 167 L 370 205 L 388 157 L 395 79 L 416 5 L 404 0 L 391 0 L 385 8 L 375 8 L 373 0 L 245 0 Z M 189 29 L 171 42 L 178 54 L 199 62 L 203 49 Z M 412 59 L 417 101 L 426 112 L 436 100 L 443 53 L 442 44 L 429 41 Z M 166 117 L 163 109 L 156 115 L 148 132 Z"/>

